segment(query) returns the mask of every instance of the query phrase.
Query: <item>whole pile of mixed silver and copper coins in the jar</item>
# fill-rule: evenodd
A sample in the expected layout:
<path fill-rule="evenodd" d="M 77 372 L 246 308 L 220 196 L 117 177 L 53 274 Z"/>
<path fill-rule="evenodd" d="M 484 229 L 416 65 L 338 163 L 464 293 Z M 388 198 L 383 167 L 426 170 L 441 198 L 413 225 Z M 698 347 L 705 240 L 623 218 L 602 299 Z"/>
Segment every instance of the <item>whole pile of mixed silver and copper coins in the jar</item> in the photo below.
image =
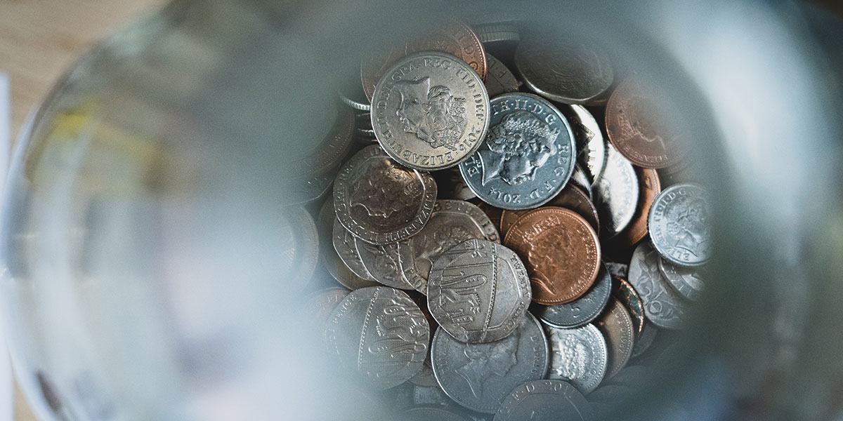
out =
<path fill-rule="evenodd" d="M 330 364 L 395 418 L 602 416 L 704 290 L 709 200 L 668 95 L 526 27 L 366 57 L 298 200 L 318 224 L 288 212 L 296 274 L 342 285 L 308 302 Z"/>

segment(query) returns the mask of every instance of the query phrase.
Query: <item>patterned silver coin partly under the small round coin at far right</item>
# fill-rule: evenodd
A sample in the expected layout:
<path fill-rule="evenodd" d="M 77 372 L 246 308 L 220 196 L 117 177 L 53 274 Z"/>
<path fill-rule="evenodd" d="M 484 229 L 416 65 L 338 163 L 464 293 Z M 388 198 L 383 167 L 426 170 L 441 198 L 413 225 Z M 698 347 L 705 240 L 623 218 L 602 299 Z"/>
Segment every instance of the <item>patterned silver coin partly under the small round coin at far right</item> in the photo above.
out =
<path fill-rule="evenodd" d="M 658 252 L 649 242 L 642 242 L 632 253 L 629 282 L 641 295 L 644 314 L 650 322 L 659 328 L 682 328 L 688 302 L 658 270 Z"/>

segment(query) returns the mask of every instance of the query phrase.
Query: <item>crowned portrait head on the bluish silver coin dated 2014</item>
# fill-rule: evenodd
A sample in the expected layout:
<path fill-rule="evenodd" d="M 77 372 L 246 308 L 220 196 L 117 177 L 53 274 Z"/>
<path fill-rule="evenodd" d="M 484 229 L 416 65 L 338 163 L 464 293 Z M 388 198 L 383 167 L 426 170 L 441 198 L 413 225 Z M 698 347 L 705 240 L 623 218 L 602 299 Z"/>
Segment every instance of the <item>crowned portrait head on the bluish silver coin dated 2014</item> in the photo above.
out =
<path fill-rule="evenodd" d="M 556 154 L 554 141 L 559 129 L 550 129 L 528 111 L 516 111 L 504 116 L 486 135 L 489 150 L 481 150 L 483 184 L 502 179 L 517 185 L 532 180 L 537 169 Z"/>

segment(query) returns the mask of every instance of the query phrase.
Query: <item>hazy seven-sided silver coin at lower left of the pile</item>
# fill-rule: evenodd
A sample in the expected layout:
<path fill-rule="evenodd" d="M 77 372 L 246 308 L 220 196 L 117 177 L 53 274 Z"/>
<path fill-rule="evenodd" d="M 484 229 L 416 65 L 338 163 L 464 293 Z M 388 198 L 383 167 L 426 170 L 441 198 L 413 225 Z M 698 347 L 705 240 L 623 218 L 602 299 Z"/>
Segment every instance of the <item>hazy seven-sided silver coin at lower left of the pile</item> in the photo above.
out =
<path fill-rule="evenodd" d="M 430 327 L 409 296 L 373 286 L 354 290 L 334 309 L 326 331 L 341 368 L 377 390 L 398 386 L 421 370 Z"/>

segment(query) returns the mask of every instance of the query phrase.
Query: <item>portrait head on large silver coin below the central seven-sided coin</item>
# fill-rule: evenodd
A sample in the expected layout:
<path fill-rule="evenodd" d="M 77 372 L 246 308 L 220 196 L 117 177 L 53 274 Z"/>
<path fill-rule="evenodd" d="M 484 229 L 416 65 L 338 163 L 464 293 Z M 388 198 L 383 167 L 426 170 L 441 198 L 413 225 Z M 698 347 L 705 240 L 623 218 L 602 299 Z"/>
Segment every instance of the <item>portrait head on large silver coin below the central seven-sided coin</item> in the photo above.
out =
<path fill-rule="evenodd" d="M 518 336 L 516 330 L 507 338 L 490 343 L 491 349 L 477 350 L 472 344 L 464 344 L 464 354 L 469 360 L 455 371 L 468 382 L 475 397 L 483 396 L 483 383 L 494 381 L 491 376 L 507 376 L 518 364 Z"/>

